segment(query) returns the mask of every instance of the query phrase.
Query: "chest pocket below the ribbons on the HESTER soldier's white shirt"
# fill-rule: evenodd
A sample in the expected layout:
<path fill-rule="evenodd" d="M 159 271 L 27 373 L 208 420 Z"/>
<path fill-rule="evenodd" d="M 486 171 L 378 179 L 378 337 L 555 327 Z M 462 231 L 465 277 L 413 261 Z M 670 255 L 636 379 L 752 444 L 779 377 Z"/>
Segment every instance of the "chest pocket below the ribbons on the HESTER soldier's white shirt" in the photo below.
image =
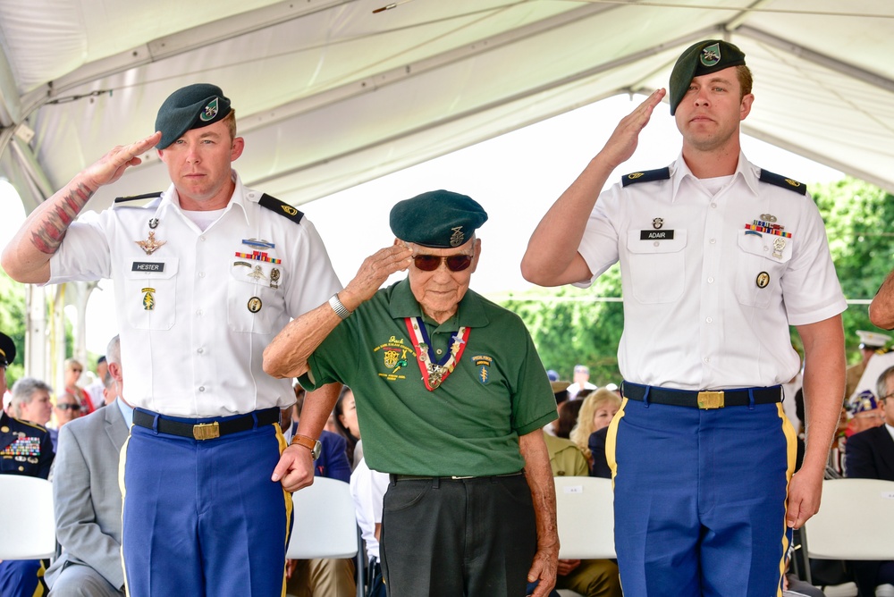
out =
<path fill-rule="evenodd" d="M 283 313 L 283 267 L 265 262 L 236 261 L 227 282 L 227 324 L 232 332 L 279 332 Z"/>

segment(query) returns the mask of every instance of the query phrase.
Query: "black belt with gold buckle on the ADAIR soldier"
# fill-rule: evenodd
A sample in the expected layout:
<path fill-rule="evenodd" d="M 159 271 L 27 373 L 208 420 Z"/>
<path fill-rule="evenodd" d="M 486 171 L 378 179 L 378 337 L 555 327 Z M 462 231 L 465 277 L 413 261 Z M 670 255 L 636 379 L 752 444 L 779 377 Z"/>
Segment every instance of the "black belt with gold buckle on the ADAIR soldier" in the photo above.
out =
<path fill-rule="evenodd" d="M 746 407 L 750 404 L 772 404 L 782 401 L 782 386 L 769 388 L 737 388 L 736 390 L 691 391 L 659 388 L 654 385 L 624 382 L 621 384 L 624 398 L 639 402 L 670 404 L 674 407 L 724 408 Z M 754 400 L 754 401 L 752 401 Z"/>

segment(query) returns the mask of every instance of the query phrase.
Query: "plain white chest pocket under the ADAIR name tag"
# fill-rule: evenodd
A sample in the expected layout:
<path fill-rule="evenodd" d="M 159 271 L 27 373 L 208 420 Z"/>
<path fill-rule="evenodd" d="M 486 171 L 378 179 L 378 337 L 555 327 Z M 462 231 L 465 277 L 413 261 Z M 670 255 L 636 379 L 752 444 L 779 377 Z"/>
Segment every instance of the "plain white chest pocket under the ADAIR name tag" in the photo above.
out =
<path fill-rule="evenodd" d="M 665 240 L 642 240 L 641 233 L 627 233 L 628 274 L 634 298 L 643 304 L 679 299 L 686 285 L 686 230 L 676 230 L 674 238 Z"/>

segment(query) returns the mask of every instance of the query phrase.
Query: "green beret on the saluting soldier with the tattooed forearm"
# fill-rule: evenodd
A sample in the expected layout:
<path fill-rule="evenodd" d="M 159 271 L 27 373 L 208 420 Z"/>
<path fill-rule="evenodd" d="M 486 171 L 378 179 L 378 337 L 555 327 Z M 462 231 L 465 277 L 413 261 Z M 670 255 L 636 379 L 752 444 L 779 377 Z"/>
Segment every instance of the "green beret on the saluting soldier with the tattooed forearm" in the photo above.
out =
<path fill-rule="evenodd" d="M 200 129 L 230 114 L 230 100 L 221 88 L 208 83 L 195 83 L 174 91 L 158 108 L 156 130 L 162 131 L 162 139 L 156 149 L 164 149 L 184 132 Z"/>

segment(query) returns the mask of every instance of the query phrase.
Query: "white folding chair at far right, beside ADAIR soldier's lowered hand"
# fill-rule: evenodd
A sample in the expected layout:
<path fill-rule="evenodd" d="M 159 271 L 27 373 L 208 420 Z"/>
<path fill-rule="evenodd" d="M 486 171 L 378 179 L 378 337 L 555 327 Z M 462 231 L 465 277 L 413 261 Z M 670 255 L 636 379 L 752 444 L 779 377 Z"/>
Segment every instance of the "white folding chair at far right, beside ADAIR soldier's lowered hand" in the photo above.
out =
<path fill-rule="evenodd" d="M 801 530 L 802 547 L 813 559 L 894 559 L 894 481 L 827 479 L 820 511 Z M 890 585 L 878 594 L 891 594 Z M 841 585 L 826 594 L 856 595 Z"/>

